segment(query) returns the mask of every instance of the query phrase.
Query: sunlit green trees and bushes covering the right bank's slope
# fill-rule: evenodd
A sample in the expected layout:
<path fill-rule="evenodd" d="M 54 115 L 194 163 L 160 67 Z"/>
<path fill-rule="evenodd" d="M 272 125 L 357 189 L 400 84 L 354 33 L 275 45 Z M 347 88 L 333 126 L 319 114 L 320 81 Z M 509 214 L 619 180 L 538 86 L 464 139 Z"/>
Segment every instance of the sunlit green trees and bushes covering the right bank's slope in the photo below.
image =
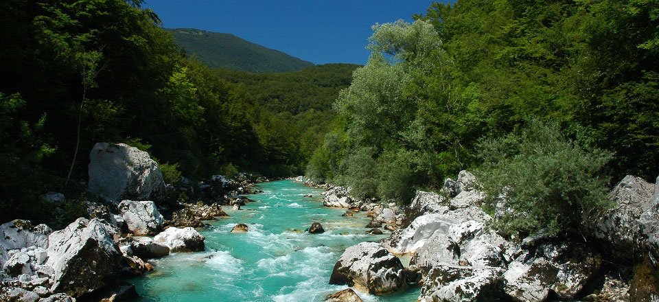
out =
<path fill-rule="evenodd" d="M 482 170 L 485 185 L 508 186 L 511 196 L 529 197 L 517 191 L 524 183 L 547 185 L 531 207 L 569 203 L 569 211 L 625 174 L 652 181 L 658 8 L 458 0 L 433 3 L 413 24 L 375 25 L 369 62 L 334 104 L 340 123 L 307 175 L 350 185 L 355 196 L 408 202 L 415 188 Z M 579 179 L 598 184 L 574 187 Z"/>

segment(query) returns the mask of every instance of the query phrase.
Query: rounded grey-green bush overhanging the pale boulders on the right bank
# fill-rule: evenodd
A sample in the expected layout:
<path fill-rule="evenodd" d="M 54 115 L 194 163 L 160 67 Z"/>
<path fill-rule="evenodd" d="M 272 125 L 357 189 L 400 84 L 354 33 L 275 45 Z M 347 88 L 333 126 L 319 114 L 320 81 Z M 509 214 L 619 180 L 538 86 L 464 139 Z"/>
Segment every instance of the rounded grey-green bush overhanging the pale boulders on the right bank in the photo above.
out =
<path fill-rule="evenodd" d="M 556 235 L 610 207 L 604 165 L 612 153 L 584 150 L 557 124 L 530 121 L 518 133 L 481 141 L 477 171 L 494 227 L 502 233 L 541 231 Z"/>

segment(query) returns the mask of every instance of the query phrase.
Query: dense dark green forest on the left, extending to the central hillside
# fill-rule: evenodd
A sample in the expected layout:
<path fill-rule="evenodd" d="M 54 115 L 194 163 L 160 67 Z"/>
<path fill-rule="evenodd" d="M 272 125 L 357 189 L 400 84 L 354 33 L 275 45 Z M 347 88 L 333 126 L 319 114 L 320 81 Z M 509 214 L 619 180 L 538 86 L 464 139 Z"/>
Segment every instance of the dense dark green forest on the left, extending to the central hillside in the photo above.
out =
<path fill-rule="evenodd" d="M 38 200 L 47 191 L 68 197 L 62 216 L 79 217 L 99 141 L 148 150 L 168 182 L 303 172 L 356 66 L 214 71 L 141 3 L 0 3 L 0 220 L 49 220 L 52 205 Z"/>

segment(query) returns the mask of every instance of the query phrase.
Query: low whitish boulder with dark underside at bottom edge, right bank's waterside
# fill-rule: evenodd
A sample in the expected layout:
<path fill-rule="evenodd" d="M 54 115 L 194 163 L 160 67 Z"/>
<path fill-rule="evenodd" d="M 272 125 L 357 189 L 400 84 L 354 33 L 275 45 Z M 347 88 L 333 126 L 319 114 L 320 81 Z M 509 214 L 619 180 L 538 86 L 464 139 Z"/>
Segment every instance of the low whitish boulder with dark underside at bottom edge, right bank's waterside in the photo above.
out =
<path fill-rule="evenodd" d="M 496 301 L 504 284 L 500 268 L 439 264 L 424 278 L 419 301 Z"/>

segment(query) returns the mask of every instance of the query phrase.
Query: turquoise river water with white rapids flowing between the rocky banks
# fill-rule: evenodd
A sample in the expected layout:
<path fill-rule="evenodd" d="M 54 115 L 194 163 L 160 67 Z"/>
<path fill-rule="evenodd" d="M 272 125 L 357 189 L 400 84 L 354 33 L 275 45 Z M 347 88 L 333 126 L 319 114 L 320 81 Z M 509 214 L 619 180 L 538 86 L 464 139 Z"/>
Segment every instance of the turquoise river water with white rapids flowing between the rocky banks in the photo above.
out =
<path fill-rule="evenodd" d="M 323 207 L 321 189 L 293 181 L 259 184 L 264 193 L 200 230 L 206 251 L 176 253 L 152 260 L 155 270 L 130 279 L 138 301 L 323 301 L 347 288 L 329 285 L 329 275 L 345 248 L 385 235 L 367 235 L 369 218 L 358 213 L 343 218 L 345 209 Z M 303 197 L 312 194 L 313 198 Z M 247 233 L 231 233 L 236 223 Z M 308 234 L 312 222 L 325 233 Z M 416 301 L 419 288 L 375 297 L 358 292 L 364 301 Z"/>

